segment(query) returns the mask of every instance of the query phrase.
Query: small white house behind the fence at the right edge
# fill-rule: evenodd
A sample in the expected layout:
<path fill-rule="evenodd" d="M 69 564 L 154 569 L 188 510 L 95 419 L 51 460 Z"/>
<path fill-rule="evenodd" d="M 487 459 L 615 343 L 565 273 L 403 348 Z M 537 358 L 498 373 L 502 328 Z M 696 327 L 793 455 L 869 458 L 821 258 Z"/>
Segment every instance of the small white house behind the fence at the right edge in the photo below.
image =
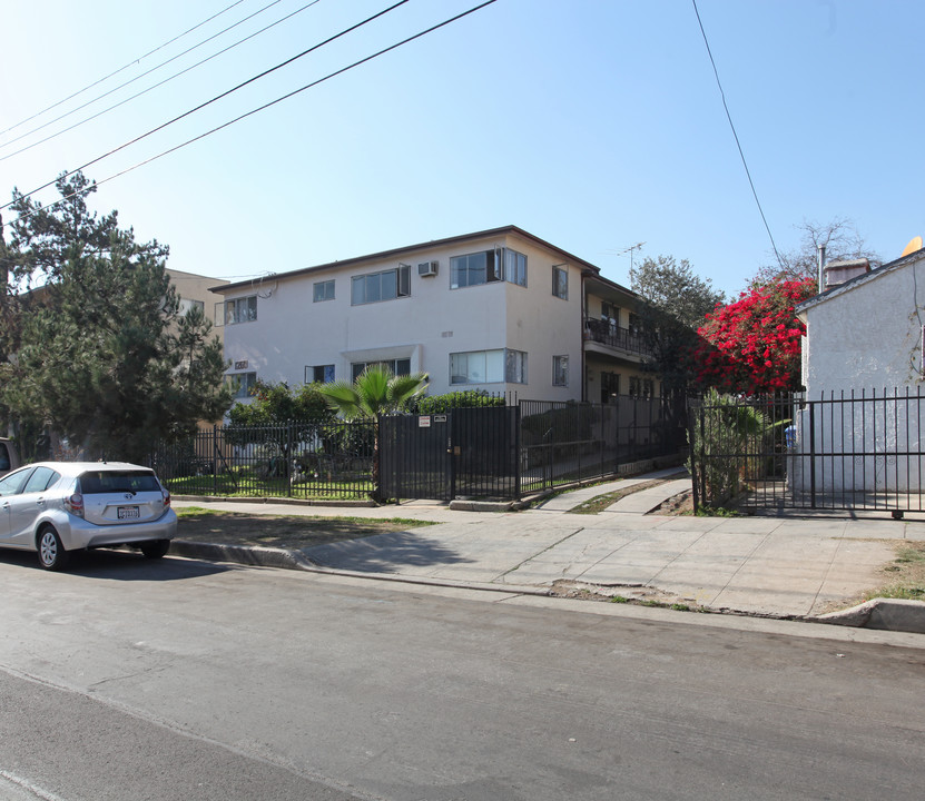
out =
<path fill-rule="evenodd" d="M 791 486 L 922 492 L 925 249 L 874 270 L 866 259 L 828 265 L 826 286 L 796 309 L 806 403 Z"/>

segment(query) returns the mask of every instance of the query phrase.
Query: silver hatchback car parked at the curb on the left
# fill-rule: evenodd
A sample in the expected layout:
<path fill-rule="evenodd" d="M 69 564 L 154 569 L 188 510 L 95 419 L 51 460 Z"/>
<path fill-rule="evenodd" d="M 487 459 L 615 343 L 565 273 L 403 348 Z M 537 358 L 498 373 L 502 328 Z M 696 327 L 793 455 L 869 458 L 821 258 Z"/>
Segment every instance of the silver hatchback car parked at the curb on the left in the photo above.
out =
<path fill-rule="evenodd" d="M 39 462 L 0 478 L 0 547 L 61 570 L 72 551 L 131 545 L 164 556 L 177 534 L 170 493 L 125 462 Z"/>

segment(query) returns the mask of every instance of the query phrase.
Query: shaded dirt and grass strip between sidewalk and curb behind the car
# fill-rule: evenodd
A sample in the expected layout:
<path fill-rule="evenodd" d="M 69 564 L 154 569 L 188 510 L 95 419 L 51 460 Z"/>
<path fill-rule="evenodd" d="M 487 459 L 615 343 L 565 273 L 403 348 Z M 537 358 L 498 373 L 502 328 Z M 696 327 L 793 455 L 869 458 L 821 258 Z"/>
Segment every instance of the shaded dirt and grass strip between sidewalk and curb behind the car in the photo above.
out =
<path fill-rule="evenodd" d="M 304 548 L 430 525 L 427 522 L 364 517 L 252 515 L 178 510 L 177 538 L 223 545 Z"/>

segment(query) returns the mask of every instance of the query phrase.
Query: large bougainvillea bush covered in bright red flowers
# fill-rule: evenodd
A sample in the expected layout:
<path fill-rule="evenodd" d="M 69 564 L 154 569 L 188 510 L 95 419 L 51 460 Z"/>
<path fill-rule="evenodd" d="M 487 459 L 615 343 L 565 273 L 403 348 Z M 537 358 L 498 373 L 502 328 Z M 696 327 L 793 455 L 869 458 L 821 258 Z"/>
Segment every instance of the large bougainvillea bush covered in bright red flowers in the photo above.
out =
<path fill-rule="evenodd" d="M 815 294 L 813 279 L 785 280 L 752 286 L 738 300 L 718 306 L 698 329 L 697 379 L 736 395 L 797 389 L 806 328 L 794 307 Z"/>

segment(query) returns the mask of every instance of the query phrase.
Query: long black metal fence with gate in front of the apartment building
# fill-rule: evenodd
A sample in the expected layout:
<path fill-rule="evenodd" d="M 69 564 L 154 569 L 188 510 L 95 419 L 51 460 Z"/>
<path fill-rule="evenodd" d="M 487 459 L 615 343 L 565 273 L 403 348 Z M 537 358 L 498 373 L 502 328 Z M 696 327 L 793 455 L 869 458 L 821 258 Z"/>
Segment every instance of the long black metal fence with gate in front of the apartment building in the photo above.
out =
<path fill-rule="evenodd" d="M 678 453 L 683 415 L 661 398 L 400 414 L 316 426 L 214 426 L 151 455 L 175 494 L 367 498 L 378 436 L 380 496 L 519 500 Z"/>

